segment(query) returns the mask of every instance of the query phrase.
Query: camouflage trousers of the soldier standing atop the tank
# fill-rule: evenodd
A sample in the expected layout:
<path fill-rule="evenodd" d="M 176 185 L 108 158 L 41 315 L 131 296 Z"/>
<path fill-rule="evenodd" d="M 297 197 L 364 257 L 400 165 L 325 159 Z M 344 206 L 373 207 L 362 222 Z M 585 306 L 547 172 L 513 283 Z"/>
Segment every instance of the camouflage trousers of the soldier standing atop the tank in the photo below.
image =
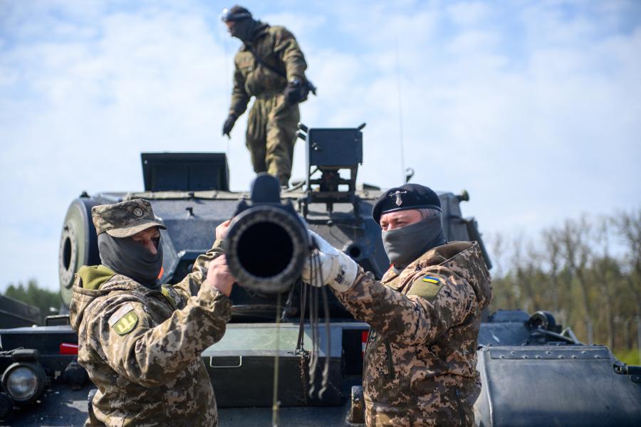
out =
<path fill-rule="evenodd" d="M 246 146 L 256 174 L 269 172 L 281 185 L 288 184 L 300 117 L 298 104 L 286 105 L 282 93 L 256 96 L 246 133 Z"/>

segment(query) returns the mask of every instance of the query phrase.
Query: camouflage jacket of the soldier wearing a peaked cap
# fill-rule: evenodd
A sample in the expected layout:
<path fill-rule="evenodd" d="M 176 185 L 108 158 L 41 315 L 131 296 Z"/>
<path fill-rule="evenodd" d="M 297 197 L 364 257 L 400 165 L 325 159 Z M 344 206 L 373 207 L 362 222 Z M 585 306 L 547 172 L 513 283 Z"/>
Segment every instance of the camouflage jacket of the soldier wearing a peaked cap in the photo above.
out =
<path fill-rule="evenodd" d="M 98 392 L 107 426 L 216 426 L 212 384 L 200 354 L 222 338 L 231 301 L 201 283 L 216 244 L 176 285 L 147 288 L 104 265 L 75 278 L 71 326 L 78 363 Z"/>

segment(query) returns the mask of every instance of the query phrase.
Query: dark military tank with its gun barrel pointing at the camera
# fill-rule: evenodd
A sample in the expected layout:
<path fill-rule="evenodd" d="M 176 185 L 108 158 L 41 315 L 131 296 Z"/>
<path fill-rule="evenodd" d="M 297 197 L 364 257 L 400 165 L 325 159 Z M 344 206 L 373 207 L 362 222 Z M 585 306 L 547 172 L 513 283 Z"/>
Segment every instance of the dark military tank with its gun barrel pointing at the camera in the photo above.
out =
<path fill-rule="evenodd" d="M 231 294 L 234 306 L 223 339 L 202 354 L 221 426 L 362 423 L 360 384 L 369 327 L 354 320 L 331 292 L 323 304 L 320 291 L 297 280 L 296 257 L 306 255 L 310 242 L 297 234 L 296 221 L 377 278 L 385 273 L 389 260 L 371 217 L 381 190 L 356 182 L 363 127 L 301 125 L 307 176 L 280 193 L 258 180 L 251 191 L 229 191 L 229 168 L 221 153 L 143 153 L 144 191 L 83 193 L 71 202 L 58 254 L 61 310 L 69 305 L 73 274 L 81 265 L 100 262 L 92 206 L 150 201 L 167 226 L 161 231 L 164 283 L 177 283 L 191 270 L 197 255 L 212 246 L 219 223 L 243 217 L 235 220 L 236 237 L 230 228 L 228 240 L 235 242 L 230 243 L 231 258 L 234 268 L 246 273 L 246 283 Z M 469 194 L 437 193 L 447 240 L 479 241 L 491 267 L 478 224 L 462 214 Z M 0 330 L 0 339 L 3 425 L 82 425 L 93 386 L 75 362 L 78 341 L 65 317 L 50 318 L 43 327 Z M 482 390 L 474 411 L 479 426 L 641 423 L 641 367 L 622 364 L 606 347 L 579 342 L 548 312 L 484 313 L 477 354 Z M 33 384 L 18 390 L 22 394 L 11 388 L 19 368 Z"/>

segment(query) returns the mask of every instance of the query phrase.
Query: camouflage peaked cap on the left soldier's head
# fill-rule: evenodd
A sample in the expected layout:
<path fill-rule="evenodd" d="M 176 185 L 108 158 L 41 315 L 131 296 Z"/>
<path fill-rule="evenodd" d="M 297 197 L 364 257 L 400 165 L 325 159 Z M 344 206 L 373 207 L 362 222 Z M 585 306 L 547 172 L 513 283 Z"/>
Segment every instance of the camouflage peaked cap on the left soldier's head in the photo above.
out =
<path fill-rule="evenodd" d="M 93 206 L 91 219 L 96 234 L 108 233 L 118 238 L 133 236 L 150 227 L 167 229 L 162 221 L 154 216 L 150 203 L 143 199 Z"/>

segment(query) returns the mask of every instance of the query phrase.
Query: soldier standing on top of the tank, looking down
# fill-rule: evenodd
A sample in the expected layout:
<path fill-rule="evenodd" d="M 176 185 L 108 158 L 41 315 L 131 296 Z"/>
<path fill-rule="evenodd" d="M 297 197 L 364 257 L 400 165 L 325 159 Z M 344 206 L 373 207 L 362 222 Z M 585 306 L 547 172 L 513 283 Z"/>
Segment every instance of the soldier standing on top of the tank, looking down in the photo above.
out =
<path fill-rule="evenodd" d="M 246 131 L 254 172 L 269 172 L 287 186 L 300 120 L 298 102 L 313 88 L 305 78 L 305 57 L 286 28 L 254 20 L 244 7 L 224 9 L 222 21 L 231 36 L 243 42 L 234 58 L 234 89 L 222 134 L 229 137 L 254 96 Z"/>

